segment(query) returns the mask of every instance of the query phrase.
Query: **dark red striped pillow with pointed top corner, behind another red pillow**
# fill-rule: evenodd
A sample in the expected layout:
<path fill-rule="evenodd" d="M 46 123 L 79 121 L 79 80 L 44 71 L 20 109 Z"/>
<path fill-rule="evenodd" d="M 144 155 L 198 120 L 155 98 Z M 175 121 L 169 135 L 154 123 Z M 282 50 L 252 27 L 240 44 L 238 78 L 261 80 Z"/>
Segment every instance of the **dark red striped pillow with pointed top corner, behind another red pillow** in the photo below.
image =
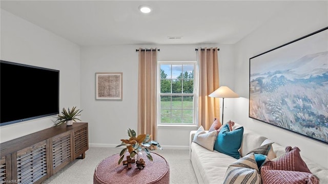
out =
<path fill-rule="evenodd" d="M 285 171 L 300 171 L 311 173 L 306 163 L 299 154 L 300 150 L 297 147 L 286 147 L 286 153 L 281 155 L 276 160 L 271 160 L 264 163 L 264 166 L 268 166 L 273 170 L 285 170 Z"/>

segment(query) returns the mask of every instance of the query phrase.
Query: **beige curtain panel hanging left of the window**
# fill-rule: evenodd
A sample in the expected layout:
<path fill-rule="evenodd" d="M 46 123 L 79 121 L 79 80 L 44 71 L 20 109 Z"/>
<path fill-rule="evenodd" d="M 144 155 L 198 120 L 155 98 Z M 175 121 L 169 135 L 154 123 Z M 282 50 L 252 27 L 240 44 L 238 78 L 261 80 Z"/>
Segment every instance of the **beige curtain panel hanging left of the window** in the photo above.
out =
<path fill-rule="evenodd" d="M 157 49 L 139 48 L 138 66 L 138 134 L 157 131 Z"/>

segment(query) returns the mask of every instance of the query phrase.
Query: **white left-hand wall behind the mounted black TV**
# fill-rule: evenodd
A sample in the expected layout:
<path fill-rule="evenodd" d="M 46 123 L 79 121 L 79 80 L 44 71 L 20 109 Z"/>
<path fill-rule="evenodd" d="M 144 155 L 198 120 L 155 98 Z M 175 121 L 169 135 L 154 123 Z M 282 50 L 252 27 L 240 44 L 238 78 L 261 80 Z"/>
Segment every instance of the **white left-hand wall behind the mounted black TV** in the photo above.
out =
<path fill-rule="evenodd" d="M 77 45 L 1 9 L 1 59 L 59 70 L 60 110 L 80 106 L 79 54 Z M 52 120 L 44 117 L 1 126 L 0 141 L 49 128 Z"/>

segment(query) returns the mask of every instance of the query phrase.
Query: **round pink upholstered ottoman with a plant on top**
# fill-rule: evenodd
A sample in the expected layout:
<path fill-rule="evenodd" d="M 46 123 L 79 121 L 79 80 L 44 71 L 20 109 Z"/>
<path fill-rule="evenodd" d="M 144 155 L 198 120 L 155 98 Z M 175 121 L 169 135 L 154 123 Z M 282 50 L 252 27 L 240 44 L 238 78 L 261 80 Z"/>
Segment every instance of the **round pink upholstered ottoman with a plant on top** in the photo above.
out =
<path fill-rule="evenodd" d="M 118 165 L 119 154 L 112 155 L 101 161 L 96 167 L 93 175 L 94 184 L 105 183 L 170 183 L 170 167 L 169 163 L 162 156 L 151 153 L 153 161 L 146 158 L 146 153 L 143 152 L 141 158 L 145 160 L 146 167 L 144 169 L 137 169 L 135 163 L 132 168 Z M 123 159 L 126 160 L 126 157 Z"/>

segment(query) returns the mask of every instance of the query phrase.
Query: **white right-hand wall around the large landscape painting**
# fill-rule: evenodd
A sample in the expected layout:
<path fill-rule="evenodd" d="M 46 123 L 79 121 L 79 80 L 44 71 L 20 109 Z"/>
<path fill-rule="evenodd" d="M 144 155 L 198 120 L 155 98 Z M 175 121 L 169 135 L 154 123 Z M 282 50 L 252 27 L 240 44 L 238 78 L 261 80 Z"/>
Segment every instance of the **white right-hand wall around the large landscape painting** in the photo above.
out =
<path fill-rule="evenodd" d="M 293 3 L 235 45 L 236 122 L 273 139 L 282 146 L 297 146 L 301 154 L 328 167 L 328 145 L 249 118 L 249 58 L 328 26 L 328 2 Z M 327 45 L 328 47 L 328 45 Z"/>

